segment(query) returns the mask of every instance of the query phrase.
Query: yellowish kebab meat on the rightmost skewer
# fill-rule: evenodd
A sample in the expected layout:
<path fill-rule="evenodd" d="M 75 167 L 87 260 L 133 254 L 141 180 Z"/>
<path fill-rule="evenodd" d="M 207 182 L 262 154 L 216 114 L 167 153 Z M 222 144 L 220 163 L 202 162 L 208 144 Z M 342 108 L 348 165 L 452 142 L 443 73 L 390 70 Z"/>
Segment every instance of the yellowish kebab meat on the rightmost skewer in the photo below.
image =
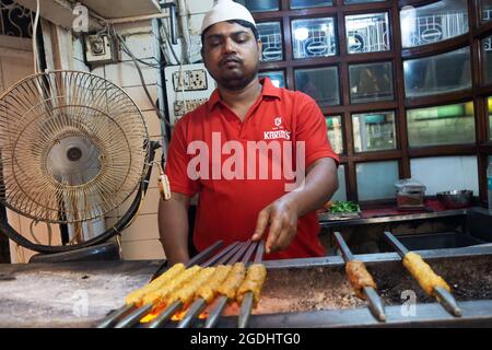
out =
<path fill-rule="evenodd" d="M 403 266 L 429 295 L 435 296 L 435 287 L 443 287 L 450 292 L 446 281 L 441 276 L 437 276 L 420 255 L 412 252 L 407 253 L 403 258 Z"/>

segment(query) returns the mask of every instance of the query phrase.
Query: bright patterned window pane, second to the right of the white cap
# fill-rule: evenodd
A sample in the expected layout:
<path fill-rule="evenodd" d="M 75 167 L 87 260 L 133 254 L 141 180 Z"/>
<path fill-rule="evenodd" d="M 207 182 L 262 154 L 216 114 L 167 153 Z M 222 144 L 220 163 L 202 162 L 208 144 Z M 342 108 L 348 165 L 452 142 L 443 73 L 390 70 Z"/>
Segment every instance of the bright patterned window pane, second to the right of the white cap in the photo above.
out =
<path fill-rule="evenodd" d="M 333 18 L 292 21 L 292 38 L 296 59 L 337 54 Z"/>

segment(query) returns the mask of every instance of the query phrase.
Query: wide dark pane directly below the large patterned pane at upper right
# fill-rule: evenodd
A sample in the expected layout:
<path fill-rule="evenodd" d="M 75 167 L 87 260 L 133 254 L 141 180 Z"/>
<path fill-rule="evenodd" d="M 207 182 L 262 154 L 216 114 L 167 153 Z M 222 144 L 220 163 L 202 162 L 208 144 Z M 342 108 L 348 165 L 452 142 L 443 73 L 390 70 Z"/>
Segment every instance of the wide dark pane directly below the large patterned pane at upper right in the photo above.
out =
<path fill-rule="evenodd" d="M 403 62 L 405 93 L 419 97 L 471 88 L 470 49 Z"/>

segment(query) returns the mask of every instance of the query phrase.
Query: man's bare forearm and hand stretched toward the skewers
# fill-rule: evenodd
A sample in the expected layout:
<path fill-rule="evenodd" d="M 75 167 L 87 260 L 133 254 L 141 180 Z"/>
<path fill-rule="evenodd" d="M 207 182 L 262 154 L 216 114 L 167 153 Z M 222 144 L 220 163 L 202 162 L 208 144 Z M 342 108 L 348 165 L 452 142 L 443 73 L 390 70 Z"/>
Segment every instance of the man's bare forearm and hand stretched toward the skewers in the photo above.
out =
<path fill-rule="evenodd" d="M 321 208 L 337 188 L 336 161 L 331 158 L 318 159 L 307 168 L 302 190 L 282 196 L 259 212 L 253 240 L 260 240 L 270 225 L 267 253 L 285 249 L 297 233 L 297 219 Z"/>

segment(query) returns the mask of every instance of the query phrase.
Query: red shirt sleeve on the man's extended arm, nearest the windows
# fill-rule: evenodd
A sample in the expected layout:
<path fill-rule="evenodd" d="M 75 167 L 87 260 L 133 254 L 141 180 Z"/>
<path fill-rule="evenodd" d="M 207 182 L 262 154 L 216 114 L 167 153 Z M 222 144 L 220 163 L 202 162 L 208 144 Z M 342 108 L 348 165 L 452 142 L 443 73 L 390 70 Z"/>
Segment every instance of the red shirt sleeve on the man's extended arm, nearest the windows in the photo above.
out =
<path fill-rule="evenodd" d="M 321 158 L 333 159 L 338 166 L 340 160 L 328 140 L 321 109 L 313 98 L 303 93 L 298 93 L 298 98 L 296 140 L 306 144 L 306 167 Z"/>

